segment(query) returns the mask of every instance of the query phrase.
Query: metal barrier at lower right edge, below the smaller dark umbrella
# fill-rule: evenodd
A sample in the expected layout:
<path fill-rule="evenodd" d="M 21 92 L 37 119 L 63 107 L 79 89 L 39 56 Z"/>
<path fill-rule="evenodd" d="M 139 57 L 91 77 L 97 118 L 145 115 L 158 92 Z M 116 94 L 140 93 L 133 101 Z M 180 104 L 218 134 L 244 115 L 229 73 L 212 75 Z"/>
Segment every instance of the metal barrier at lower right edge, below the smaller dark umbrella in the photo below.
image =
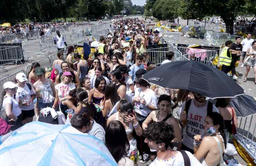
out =
<path fill-rule="evenodd" d="M 246 150 L 254 162 L 256 161 L 256 122 L 253 120 L 255 118 L 255 114 L 247 117 L 237 117 L 237 134 L 233 135 L 233 138 L 235 138 L 237 142 Z"/>

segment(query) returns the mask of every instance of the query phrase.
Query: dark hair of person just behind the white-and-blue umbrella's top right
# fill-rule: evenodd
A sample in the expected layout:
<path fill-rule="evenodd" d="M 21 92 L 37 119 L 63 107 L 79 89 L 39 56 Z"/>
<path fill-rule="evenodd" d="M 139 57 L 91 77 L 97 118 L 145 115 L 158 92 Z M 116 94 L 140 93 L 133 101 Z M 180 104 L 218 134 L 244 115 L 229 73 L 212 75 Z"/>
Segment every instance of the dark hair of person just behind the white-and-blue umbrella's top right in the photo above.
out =
<path fill-rule="evenodd" d="M 90 124 L 90 121 L 91 121 L 91 117 L 88 113 L 83 113 L 83 114 L 79 114 L 79 115 L 76 115 L 74 116 L 70 123 L 71 123 L 71 126 L 74 127 L 74 128 L 77 128 L 77 129 L 82 129 L 83 126 L 88 126 Z"/>

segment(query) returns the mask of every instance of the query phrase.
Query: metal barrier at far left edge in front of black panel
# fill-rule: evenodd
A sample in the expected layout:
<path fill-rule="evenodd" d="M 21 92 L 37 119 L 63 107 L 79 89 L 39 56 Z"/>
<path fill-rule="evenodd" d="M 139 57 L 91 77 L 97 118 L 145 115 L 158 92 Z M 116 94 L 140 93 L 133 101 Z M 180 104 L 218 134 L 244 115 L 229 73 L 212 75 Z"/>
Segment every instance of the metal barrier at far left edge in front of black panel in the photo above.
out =
<path fill-rule="evenodd" d="M 17 62 L 22 64 L 23 54 L 20 46 L 0 46 L 0 67 L 4 70 L 5 65 Z"/>

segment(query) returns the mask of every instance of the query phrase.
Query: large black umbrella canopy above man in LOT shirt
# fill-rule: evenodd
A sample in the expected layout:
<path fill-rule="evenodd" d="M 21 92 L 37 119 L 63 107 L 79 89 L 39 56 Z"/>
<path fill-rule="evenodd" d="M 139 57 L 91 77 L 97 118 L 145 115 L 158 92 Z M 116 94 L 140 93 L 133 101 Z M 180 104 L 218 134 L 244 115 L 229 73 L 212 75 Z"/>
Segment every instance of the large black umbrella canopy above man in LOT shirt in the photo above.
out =
<path fill-rule="evenodd" d="M 166 63 L 144 74 L 143 79 L 164 88 L 189 90 L 211 99 L 244 94 L 244 90 L 227 74 L 196 61 Z"/>

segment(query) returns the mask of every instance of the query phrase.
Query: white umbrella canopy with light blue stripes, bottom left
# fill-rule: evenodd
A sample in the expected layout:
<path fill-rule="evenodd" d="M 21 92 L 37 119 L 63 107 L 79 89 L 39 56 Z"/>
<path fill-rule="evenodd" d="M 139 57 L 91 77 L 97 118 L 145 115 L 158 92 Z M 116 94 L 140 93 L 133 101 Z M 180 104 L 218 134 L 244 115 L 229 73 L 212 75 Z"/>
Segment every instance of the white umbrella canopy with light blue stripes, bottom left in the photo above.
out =
<path fill-rule="evenodd" d="M 34 121 L 15 130 L 0 145 L 4 165 L 112 166 L 115 159 L 104 143 L 69 124 Z"/>

